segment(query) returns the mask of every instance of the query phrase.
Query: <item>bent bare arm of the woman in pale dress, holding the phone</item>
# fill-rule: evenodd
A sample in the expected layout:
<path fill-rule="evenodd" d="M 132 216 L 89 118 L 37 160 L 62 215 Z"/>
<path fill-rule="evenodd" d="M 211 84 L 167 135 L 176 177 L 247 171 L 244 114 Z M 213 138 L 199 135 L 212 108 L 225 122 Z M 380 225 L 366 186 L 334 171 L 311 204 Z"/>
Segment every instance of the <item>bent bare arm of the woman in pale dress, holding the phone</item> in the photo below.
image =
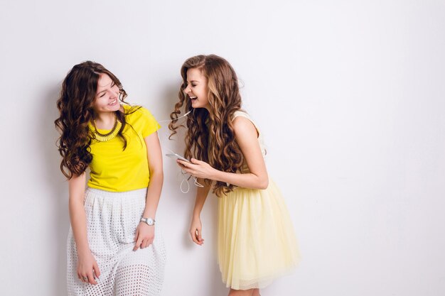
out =
<path fill-rule="evenodd" d="M 252 121 L 239 116 L 233 121 L 235 140 L 240 146 L 242 155 L 247 162 L 250 172 L 234 173 L 215 170 L 208 163 L 192 158 L 192 163 L 177 160 L 183 170 L 195 177 L 205 177 L 210 180 L 227 182 L 232 185 L 252 189 L 266 189 L 269 185 L 266 165 L 258 143 L 257 129 Z"/>

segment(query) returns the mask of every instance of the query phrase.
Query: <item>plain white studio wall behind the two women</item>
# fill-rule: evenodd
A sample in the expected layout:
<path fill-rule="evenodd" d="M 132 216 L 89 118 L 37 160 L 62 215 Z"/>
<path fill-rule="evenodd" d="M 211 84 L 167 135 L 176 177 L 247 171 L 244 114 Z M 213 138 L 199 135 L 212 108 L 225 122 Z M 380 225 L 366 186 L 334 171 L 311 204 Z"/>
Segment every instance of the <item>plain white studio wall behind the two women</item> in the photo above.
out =
<path fill-rule="evenodd" d="M 53 121 L 68 70 L 102 63 L 161 121 L 203 53 L 235 67 L 299 239 L 299 268 L 262 295 L 445 295 L 444 1 L 1 0 L 0 32 L 1 295 L 66 294 Z M 195 187 L 181 193 L 170 158 L 164 173 L 162 295 L 226 295 L 216 197 L 196 246 Z"/>

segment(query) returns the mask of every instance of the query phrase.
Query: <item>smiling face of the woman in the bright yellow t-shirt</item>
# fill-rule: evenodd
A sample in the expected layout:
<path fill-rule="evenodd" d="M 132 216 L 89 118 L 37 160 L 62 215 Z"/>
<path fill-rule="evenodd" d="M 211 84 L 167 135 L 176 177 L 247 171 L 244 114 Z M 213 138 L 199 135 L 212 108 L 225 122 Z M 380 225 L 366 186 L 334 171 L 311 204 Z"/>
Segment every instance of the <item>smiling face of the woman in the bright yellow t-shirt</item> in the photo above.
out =
<path fill-rule="evenodd" d="M 114 112 L 119 110 L 119 87 L 105 73 L 101 73 L 97 80 L 97 92 L 93 109 L 96 114 Z"/>

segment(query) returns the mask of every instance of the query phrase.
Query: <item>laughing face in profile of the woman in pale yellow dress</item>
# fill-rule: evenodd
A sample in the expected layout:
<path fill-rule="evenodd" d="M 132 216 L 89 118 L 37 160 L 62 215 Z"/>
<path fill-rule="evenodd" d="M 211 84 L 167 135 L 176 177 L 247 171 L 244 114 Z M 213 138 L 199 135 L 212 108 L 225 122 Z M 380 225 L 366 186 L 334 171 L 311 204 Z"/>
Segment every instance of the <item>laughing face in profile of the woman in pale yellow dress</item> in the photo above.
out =
<path fill-rule="evenodd" d="M 184 89 L 186 99 L 191 100 L 193 108 L 209 109 L 207 78 L 202 70 L 191 68 L 187 70 L 187 87 Z"/>

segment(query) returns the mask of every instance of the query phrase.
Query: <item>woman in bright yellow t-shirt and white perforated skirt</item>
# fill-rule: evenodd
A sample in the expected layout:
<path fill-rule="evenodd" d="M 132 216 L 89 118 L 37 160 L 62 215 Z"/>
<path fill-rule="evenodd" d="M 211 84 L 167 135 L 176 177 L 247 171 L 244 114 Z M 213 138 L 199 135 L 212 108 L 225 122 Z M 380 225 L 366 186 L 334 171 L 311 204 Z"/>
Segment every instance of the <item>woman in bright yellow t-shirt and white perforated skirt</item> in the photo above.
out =
<path fill-rule="evenodd" d="M 126 97 L 96 62 L 75 65 L 63 80 L 55 126 L 69 187 L 68 295 L 161 290 L 165 251 L 154 224 L 163 184 L 160 126 Z"/>

